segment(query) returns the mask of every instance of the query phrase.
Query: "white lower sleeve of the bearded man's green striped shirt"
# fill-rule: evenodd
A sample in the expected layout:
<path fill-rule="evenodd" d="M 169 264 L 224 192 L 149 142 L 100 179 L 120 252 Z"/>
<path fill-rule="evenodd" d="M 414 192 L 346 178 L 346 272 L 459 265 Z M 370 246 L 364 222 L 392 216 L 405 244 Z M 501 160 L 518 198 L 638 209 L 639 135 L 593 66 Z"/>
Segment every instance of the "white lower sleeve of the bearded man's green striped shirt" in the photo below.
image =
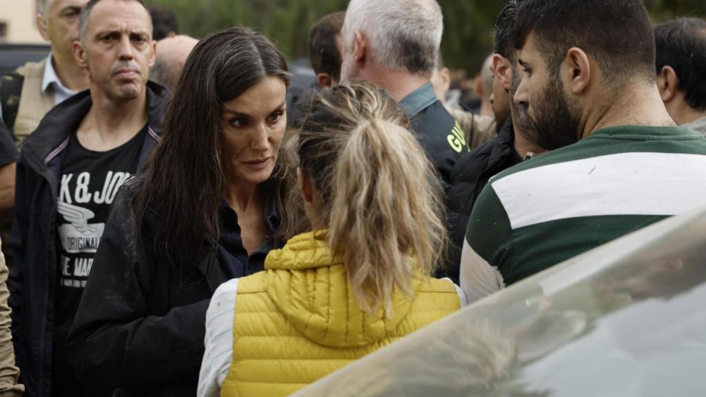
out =
<path fill-rule="evenodd" d="M 466 239 L 463 239 L 459 278 L 461 289 L 466 293 L 469 304 L 505 287 L 503 275 L 498 268 L 481 258 Z"/>

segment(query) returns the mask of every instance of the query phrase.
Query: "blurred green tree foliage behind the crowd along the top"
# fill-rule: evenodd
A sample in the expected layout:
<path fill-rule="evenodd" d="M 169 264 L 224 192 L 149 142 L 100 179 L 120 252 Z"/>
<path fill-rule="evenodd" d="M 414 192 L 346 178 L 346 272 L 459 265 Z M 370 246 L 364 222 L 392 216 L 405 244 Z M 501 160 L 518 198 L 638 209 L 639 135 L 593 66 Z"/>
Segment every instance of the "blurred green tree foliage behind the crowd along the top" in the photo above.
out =
<path fill-rule="evenodd" d="M 644 0 L 654 22 L 676 16 L 706 16 L 705 0 Z M 147 0 L 171 8 L 181 32 L 203 37 L 244 25 L 272 37 L 290 60 L 306 57 L 309 29 L 328 13 L 345 10 L 347 0 Z M 477 73 L 493 49 L 493 23 L 503 0 L 438 0 L 444 13 L 441 45 L 447 66 Z M 629 28 L 629 27 L 626 27 Z"/>

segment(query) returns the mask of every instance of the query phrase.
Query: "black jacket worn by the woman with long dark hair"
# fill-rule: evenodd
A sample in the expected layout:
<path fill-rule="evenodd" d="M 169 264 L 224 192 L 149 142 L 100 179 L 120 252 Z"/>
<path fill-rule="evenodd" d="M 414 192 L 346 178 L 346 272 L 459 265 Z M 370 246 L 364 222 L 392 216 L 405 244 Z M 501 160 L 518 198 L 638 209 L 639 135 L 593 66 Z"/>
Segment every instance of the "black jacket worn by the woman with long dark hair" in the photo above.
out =
<path fill-rule="evenodd" d="M 204 244 L 197 266 L 174 268 L 155 251 L 153 213 L 137 232 L 143 180 L 115 196 L 66 350 L 79 379 L 120 388 L 114 396 L 195 396 L 220 266 Z"/>

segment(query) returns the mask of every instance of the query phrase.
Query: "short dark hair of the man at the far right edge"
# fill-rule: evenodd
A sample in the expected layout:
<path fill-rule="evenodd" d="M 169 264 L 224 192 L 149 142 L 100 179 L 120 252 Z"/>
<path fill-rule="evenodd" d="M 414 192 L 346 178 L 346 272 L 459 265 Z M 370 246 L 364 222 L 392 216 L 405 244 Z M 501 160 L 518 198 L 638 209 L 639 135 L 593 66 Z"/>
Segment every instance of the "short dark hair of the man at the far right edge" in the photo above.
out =
<path fill-rule="evenodd" d="M 657 74 L 671 66 L 686 103 L 706 109 L 706 21 L 678 18 L 654 27 Z"/>

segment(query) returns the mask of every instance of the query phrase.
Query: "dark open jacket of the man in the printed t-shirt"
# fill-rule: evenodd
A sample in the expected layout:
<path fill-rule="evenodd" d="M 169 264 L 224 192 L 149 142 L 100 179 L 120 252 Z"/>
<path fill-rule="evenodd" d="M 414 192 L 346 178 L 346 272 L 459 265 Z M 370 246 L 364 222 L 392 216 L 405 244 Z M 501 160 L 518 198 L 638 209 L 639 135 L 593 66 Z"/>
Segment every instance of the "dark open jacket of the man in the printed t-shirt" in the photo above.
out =
<path fill-rule="evenodd" d="M 162 133 L 169 95 L 161 85 L 148 85 L 150 133 L 138 167 L 148 158 Z M 56 292 L 56 199 L 61 160 L 92 101 L 88 90 L 57 105 L 23 144 L 17 164 L 15 217 L 10 249 L 15 260 L 8 286 L 12 334 L 20 380 L 30 397 L 51 396 L 54 297 Z M 57 343 L 63 343 L 63 341 Z"/>

